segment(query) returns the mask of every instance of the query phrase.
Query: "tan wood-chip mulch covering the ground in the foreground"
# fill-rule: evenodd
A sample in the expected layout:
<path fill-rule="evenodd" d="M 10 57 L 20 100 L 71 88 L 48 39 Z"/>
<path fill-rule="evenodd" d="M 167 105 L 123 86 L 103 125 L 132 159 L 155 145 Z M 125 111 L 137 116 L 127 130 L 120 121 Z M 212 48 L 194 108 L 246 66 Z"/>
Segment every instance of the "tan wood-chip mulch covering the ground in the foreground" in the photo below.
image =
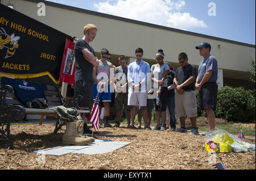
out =
<path fill-rule="evenodd" d="M 201 121 L 201 124 L 203 124 Z M 223 121 L 223 120 L 217 120 Z M 207 124 L 207 122 L 205 122 Z M 255 128 L 255 123 L 252 124 Z M 204 136 L 171 131 L 148 131 L 101 127 L 95 138 L 130 141 L 111 153 L 85 155 L 67 154 L 61 157 L 46 155 L 46 162 L 38 162 L 39 154 L 31 151 L 62 146 L 65 127 L 53 134 L 55 125 L 11 125 L 14 150 L 6 148 L 0 136 L 0 169 L 207 169 L 210 154 L 203 151 Z M 251 144 L 255 141 L 246 140 Z M 254 153 L 217 153 L 216 162 L 224 162 L 227 169 L 255 169 Z"/>

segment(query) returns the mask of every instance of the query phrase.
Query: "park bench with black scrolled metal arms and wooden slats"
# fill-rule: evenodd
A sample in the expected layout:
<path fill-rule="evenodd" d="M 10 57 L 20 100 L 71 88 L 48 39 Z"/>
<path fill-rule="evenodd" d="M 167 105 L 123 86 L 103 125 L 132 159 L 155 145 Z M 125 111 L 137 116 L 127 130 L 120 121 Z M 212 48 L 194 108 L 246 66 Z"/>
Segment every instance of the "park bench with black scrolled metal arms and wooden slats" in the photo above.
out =
<path fill-rule="evenodd" d="M 1 82 L 1 77 L 0 77 Z M 10 140 L 10 123 L 14 120 L 22 120 L 27 115 L 41 115 L 39 125 L 42 125 L 44 116 L 51 116 L 58 118 L 55 124 L 54 134 L 65 124 L 65 121 L 60 120 L 57 113 L 53 111 L 52 107 L 65 106 L 76 107 L 80 114 L 85 113 L 86 117 L 90 114 L 89 109 L 82 109 L 77 106 L 77 100 L 81 100 L 82 96 L 75 96 L 73 99 L 65 99 L 61 96 L 57 86 L 47 86 L 47 90 L 44 91 L 44 95 L 47 99 L 48 108 L 35 109 L 26 108 L 23 103 L 16 98 L 15 90 L 10 85 L 2 86 L 0 84 L 0 133 L 5 137 L 7 146 L 13 149 L 12 142 Z"/>

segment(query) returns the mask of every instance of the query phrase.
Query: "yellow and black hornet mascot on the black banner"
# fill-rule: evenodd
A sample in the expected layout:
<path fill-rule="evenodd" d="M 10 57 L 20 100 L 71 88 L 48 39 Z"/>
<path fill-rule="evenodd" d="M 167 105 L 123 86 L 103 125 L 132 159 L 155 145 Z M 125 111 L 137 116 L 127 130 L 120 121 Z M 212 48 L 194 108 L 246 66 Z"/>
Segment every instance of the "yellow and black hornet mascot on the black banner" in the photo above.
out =
<path fill-rule="evenodd" d="M 11 36 L 7 35 L 6 31 L 1 27 L 0 28 L 0 49 L 3 47 L 7 48 L 5 58 L 11 57 L 15 53 L 15 49 L 19 47 L 18 40 L 19 36 L 14 36 L 14 33 Z"/>

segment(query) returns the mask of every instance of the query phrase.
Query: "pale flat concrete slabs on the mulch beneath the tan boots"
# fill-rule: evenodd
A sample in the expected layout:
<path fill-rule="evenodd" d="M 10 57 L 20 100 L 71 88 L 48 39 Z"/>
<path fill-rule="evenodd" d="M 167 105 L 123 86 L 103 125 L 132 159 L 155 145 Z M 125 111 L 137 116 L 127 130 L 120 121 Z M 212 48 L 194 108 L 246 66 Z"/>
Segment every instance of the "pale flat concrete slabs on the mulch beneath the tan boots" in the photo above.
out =
<path fill-rule="evenodd" d="M 47 154 L 61 156 L 69 153 L 78 154 L 103 154 L 109 153 L 123 146 L 129 145 L 131 142 L 112 141 L 96 139 L 94 143 L 85 146 L 57 146 L 55 148 L 49 148 L 44 150 L 33 151 L 31 153 Z"/>

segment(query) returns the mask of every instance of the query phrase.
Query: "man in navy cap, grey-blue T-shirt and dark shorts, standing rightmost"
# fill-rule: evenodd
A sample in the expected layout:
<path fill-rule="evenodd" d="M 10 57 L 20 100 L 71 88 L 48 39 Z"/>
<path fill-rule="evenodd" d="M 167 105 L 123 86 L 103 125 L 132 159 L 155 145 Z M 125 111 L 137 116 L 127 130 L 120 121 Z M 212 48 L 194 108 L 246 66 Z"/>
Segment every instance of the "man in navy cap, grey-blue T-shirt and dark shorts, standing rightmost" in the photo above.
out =
<path fill-rule="evenodd" d="M 200 56 L 203 56 L 204 60 L 199 65 L 195 86 L 199 91 L 200 109 L 207 113 L 209 131 L 213 131 L 215 119 L 213 110 L 216 110 L 218 91 L 216 83 L 218 64 L 216 58 L 210 55 L 211 47 L 209 43 L 201 43 L 196 49 L 199 49 Z"/>

